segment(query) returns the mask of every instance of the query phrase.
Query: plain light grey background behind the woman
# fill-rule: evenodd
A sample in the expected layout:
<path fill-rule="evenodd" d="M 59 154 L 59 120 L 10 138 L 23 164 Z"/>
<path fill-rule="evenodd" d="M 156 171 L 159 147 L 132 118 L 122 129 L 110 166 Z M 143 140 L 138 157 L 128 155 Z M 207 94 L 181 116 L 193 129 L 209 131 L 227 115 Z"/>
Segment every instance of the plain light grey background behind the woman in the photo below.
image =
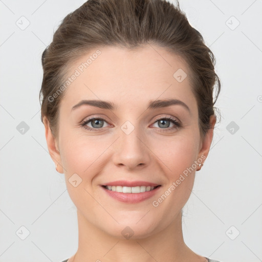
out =
<path fill-rule="evenodd" d="M 0 0 L 0 262 L 60 262 L 77 250 L 76 208 L 48 153 L 38 95 L 41 53 L 83 3 Z M 180 5 L 222 81 L 221 123 L 184 208 L 185 242 L 223 262 L 262 261 L 262 1 Z"/>

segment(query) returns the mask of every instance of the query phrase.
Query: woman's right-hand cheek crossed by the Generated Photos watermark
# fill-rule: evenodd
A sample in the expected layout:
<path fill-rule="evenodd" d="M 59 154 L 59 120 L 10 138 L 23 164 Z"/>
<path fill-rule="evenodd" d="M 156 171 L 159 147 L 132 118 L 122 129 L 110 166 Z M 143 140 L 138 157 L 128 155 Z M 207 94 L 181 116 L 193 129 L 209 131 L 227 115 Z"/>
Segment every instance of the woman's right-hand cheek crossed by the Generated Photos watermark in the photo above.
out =
<path fill-rule="evenodd" d="M 152 206 L 160 216 L 165 214 L 165 210 L 172 210 L 166 216 L 166 219 L 168 217 L 169 221 L 172 221 L 191 194 L 196 167 L 194 161 L 198 156 L 198 139 L 193 133 L 191 136 L 174 136 L 165 144 L 163 141 L 156 141 L 155 150 L 157 148 L 157 156 L 163 162 L 161 167 L 165 172 L 166 183 Z"/>

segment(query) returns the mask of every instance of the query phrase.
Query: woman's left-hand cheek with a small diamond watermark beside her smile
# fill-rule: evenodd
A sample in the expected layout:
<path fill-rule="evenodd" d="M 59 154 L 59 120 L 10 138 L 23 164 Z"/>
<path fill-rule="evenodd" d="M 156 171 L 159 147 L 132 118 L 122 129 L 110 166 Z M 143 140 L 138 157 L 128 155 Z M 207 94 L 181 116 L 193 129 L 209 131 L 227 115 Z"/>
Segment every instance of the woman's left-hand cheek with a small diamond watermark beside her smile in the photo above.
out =
<path fill-rule="evenodd" d="M 78 208 L 88 205 L 95 208 L 95 203 L 90 197 L 90 185 L 97 170 L 99 155 L 105 150 L 104 146 L 93 139 L 75 135 L 61 136 L 61 159 L 64 167 L 65 182 L 71 200 Z"/>

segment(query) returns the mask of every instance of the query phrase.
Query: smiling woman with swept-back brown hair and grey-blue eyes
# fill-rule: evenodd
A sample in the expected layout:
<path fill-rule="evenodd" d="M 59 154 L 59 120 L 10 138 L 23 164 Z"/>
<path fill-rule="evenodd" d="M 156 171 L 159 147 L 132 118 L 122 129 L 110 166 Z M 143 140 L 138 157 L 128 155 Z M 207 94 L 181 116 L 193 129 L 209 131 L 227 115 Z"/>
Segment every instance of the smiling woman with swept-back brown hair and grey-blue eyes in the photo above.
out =
<path fill-rule="evenodd" d="M 78 250 L 64 261 L 215 261 L 187 247 L 181 222 L 212 142 L 214 62 L 179 4 L 91 0 L 63 19 L 40 95 L 77 208 Z"/>

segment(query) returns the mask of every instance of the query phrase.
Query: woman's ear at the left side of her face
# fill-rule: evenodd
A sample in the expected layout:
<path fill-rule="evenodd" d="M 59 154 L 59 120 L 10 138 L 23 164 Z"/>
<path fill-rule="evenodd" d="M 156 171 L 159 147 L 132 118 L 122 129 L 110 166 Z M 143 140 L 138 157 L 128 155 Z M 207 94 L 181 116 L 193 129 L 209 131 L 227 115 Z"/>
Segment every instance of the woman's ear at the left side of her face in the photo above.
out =
<path fill-rule="evenodd" d="M 60 156 L 60 152 L 59 152 L 59 147 L 57 145 L 57 141 L 51 131 L 49 122 L 47 120 L 46 117 L 43 118 L 43 124 L 45 125 L 45 129 L 46 129 L 46 140 L 47 140 L 47 146 L 48 146 L 48 151 L 49 154 L 52 158 L 52 160 L 55 163 L 55 166 L 57 164 L 57 171 L 59 173 L 63 173 L 61 170 L 63 170 L 62 168 L 62 162 L 61 162 L 61 156 Z"/>

